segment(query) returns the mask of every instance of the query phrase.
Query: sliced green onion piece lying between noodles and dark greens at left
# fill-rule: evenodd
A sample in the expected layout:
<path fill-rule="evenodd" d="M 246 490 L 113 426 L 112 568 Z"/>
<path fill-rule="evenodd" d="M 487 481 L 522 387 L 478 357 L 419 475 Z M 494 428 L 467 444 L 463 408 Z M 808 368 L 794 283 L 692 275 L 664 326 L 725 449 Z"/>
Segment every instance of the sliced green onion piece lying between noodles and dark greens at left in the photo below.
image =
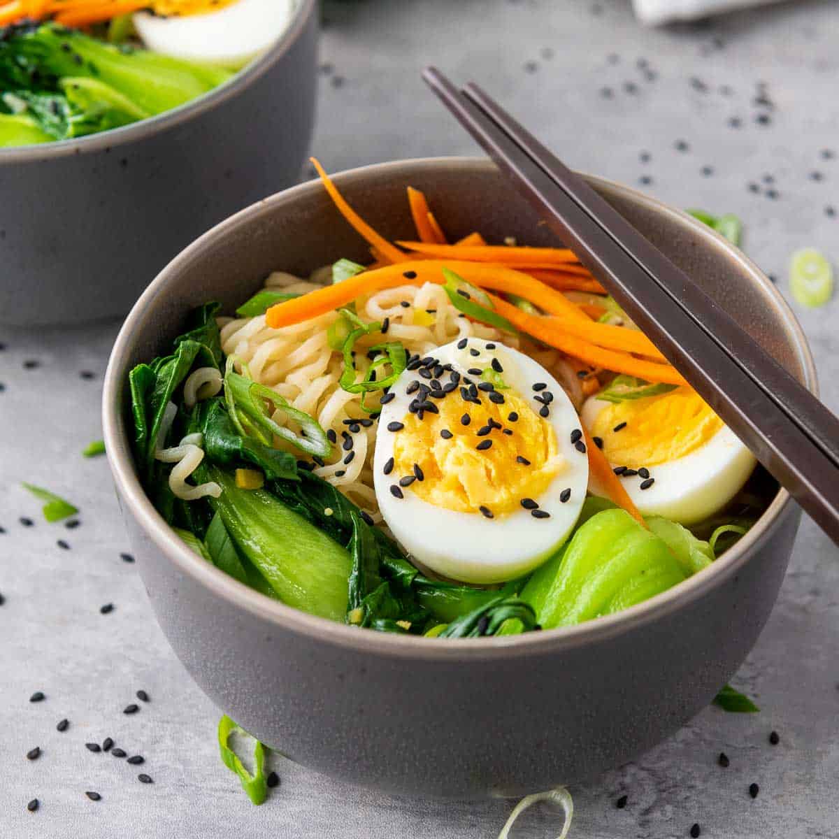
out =
<path fill-rule="evenodd" d="M 285 440 L 300 451 L 320 457 L 329 456 L 332 446 L 317 420 L 297 408 L 293 408 L 275 390 L 264 384 L 254 382 L 252 378 L 233 369 L 234 357 L 227 358 L 227 370 L 224 374 L 224 395 L 227 410 L 237 431 L 243 437 L 255 436 L 265 446 L 271 446 L 274 435 Z M 279 409 L 300 425 L 301 435 L 284 425 L 278 425 L 268 412 L 271 408 Z"/>

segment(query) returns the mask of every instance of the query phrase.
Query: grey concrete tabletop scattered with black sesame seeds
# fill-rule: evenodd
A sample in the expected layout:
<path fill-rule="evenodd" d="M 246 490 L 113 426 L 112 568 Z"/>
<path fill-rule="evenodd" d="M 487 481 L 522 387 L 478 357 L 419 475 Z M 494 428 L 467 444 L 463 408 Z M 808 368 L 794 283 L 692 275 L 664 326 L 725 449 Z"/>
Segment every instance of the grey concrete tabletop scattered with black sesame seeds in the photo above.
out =
<path fill-rule="evenodd" d="M 675 205 L 737 212 L 744 248 L 784 294 L 795 248 L 839 258 L 839 218 L 825 212 L 834 202 L 839 211 L 839 159 L 821 156 L 839 153 L 834 3 L 802 0 L 663 31 L 638 28 L 627 4 L 607 0 L 335 0 L 324 13 L 314 151 L 330 169 L 473 153 L 419 81 L 434 62 L 482 81 L 581 169 L 636 185 L 646 175 L 644 189 Z M 761 113 L 768 124 L 755 122 Z M 732 117 L 740 128 L 729 127 Z M 676 148 L 680 140 L 687 149 Z M 797 310 L 833 409 L 837 306 Z M 100 383 L 116 329 L 0 334 L 0 836 L 497 836 L 511 803 L 388 798 L 279 757 L 271 760 L 279 789 L 263 807 L 248 803 L 217 758 L 218 711 L 170 652 L 135 566 L 120 559 L 128 545 L 107 463 L 80 455 L 101 435 Z M 22 480 L 73 499 L 81 526 L 44 523 Z M 728 839 L 839 836 L 837 592 L 839 554 L 805 521 L 778 606 L 734 680 L 761 713 L 708 708 L 636 763 L 576 785 L 571 836 L 688 836 L 694 822 L 702 836 Z M 103 615 L 105 603 L 114 610 Z M 151 702 L 123 715 L 138 689 Z M 30 703 L 34 690 L 46 699 Z M 57 732 L 64 717 L 70 727 Z M 84 748 L 104 737 L 146 762 Z M 29 761 L 34 746 L 43 753 Z M 717 765 L 721 751 L 727 769 Z M 139 771 L 154 784 L 139 784 Z M 86 799 L 88 789 L 102 800 Z M 34 797 L 40 809 L 29 813 Z M 556 832 L 555 812 L 540 809 L 515 835 Z"/>

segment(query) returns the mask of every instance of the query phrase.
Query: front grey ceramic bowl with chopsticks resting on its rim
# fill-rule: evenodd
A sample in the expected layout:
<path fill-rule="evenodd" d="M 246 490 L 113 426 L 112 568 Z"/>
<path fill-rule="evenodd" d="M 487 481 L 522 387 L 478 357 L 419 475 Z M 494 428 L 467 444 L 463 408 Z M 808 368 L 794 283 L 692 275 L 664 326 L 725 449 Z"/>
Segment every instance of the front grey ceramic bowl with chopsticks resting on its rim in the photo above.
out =
<path fill-rule="evenodd" d="M 805 338 L 753 263 L 680 211 L 591 184 L 815 387 Z M 429 159 L 336 177 L 388 237 L 409 237 L 405 185 L 426 190 L 452 237 L 555 243 L 491 164 Z M 128 445 L 126 380 L 168 352 L 191 306 L 245 300 L 268 272 L 367 250 L 317 183 L 233 216 L 181 253 L 122 327 L 104 429 L 138 569 L 160 626 L 220 709 L 295 761 L 407 795 L 520 795 L 618 766 L 668 737 L 737 670 L 769 616 L 800 511 L 779 492 L 705 571 L 618 615 L 513 638 L 446 641 L 330 623 L 269 600 L 182 545 L 155 512 Z M 487 543 L 487 550 L 492 546 Z"/>

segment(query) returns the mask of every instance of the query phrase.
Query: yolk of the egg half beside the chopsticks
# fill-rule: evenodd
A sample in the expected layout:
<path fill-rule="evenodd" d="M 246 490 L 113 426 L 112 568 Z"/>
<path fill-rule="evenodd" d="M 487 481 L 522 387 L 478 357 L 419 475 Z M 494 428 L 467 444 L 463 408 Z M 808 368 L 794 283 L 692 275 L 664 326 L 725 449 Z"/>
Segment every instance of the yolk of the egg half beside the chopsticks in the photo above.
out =
<path fill-rule="evenodd" d="M 618 430 L 615 430 L 618 429 Z M 696 451 L 722 430 L 722 420 L 690 388 L 608 404 L 589 433 L 603 440 L 610 463 L 639 469 Z"/>

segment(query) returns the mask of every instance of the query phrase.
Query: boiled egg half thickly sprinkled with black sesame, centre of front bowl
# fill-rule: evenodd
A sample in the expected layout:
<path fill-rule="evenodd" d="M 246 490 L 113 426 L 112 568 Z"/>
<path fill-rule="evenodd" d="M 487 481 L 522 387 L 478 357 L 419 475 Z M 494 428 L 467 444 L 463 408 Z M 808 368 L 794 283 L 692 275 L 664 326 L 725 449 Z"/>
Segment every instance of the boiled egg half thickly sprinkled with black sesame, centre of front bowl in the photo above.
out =
<path fill-rule="evenodd" d="M 465 338 L 415 358 L 383 399 L 379 509 L 422 565 L 472 583 L 532 571 L 576 524 L 588 483 L 580 420 L 539 363 Z"/>

